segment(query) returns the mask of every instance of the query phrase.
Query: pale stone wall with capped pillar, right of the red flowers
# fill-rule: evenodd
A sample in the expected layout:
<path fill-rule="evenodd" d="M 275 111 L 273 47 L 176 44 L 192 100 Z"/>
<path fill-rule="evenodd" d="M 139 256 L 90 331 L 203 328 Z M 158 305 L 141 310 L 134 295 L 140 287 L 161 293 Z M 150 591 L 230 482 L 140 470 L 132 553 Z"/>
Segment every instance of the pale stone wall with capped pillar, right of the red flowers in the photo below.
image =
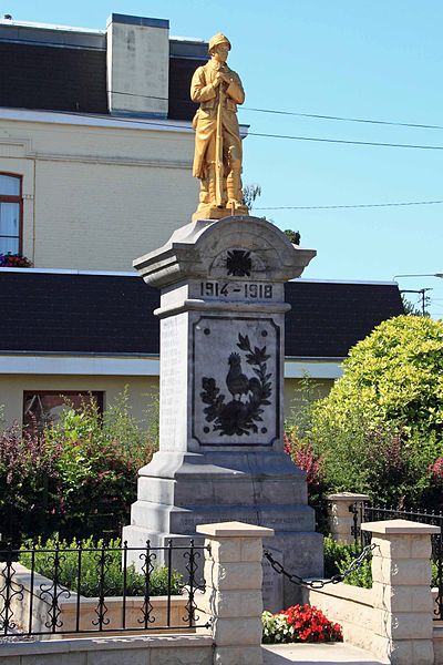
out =
<path fill-rule="evenodd" d="M 343 627 L 344 641 L 392 665 L 442 665 L 443 631 L 434 618 L 431 534 L 408 520 L 362 524 L 372 533 L 372 589 L 344 584 L 305 591 L 305 600 Z"/>

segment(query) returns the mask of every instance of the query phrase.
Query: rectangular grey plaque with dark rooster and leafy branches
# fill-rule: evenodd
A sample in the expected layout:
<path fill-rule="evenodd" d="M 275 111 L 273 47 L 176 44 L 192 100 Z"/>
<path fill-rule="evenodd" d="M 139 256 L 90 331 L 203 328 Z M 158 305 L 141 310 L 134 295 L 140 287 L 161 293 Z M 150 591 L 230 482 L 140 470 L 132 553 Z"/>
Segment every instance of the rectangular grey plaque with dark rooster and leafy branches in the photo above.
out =
<path fill-rule="evenodd" d="M 205 446 L 271 446 L 280 434 L 275 320 L 200 317 L 193 330 L 193 437 Z"/>

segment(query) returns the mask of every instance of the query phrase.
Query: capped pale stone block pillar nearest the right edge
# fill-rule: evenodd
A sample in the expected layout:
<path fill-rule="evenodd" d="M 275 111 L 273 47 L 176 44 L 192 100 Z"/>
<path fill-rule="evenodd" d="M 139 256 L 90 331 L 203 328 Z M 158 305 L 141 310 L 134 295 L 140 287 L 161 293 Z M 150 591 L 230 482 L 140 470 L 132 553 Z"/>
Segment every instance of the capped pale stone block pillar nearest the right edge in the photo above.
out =
<path fill-rule="evenodd" d="M 384 520 L 372 532 L 374 604 L 372 652 L 392 665 L 433 665 L 431 538 L 439 526 Z"/>

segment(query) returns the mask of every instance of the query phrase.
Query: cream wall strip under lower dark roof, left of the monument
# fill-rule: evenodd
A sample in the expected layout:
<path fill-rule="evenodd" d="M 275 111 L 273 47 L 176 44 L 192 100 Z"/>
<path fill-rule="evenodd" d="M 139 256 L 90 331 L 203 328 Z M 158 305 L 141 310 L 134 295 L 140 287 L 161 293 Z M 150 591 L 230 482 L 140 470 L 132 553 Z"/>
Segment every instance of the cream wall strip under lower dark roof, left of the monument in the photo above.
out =
<path fill-rule="evenodd" d="M 152 396 L 158 395 L 157 377 L 0 375 L 0 405 L 4 406 L 4 420 L 8 424 L 14 420 L 21 423 L 24 390 L 103 390 L 106 407 L 122 392 L 125 385 L 130 388 L 134 417 L 146 423 L 146 410 Z"/>

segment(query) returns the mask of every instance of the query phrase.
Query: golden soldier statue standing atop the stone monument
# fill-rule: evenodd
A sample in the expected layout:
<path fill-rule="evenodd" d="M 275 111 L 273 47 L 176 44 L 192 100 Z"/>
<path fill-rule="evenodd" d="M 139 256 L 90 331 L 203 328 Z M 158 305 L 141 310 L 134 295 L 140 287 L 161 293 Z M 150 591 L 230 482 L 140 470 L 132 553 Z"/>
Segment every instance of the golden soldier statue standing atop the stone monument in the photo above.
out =
<path fill-rule="evenodd" d="M 239 75 L 226 64 L 229 51 L 227 37 L 215 34 L 209 40 L 210 60 L 195 71 L 190 83 L 190 99 L 199 103 L 193 121 L 193 175 L 200 181 L 200 194 L 193 218 L 248 214 L 243 204 L 237 120 L 237 104 L 245 101 L 245 92 Z"/>

